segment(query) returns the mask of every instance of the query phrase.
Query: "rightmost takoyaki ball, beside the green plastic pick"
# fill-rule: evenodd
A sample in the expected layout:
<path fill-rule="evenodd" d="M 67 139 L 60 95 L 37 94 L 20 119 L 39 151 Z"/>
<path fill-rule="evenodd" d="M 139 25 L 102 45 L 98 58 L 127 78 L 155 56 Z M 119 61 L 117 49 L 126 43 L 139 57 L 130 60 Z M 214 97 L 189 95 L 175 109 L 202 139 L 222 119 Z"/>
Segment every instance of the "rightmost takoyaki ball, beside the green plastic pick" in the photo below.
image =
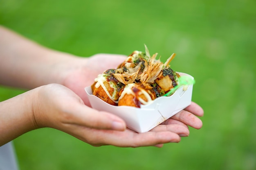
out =
<path fill-rule="evenodd" d="M 178 77 L 180 76 L 171 68 L 164 68 L 159 75 L 160 76 L 155 82 L 164 90 L 164 92 L 168 92 L 175 87 L 177 85 Z"/>

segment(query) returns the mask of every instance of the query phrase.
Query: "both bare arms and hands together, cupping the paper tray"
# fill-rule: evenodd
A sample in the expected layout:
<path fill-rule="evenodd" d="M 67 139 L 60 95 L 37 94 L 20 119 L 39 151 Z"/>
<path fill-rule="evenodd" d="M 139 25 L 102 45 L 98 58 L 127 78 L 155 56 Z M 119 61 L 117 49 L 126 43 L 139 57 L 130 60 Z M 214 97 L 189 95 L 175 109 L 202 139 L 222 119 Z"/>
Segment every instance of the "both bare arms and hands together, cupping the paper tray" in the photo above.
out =
<path fill-rule="evenodd" d="M 126 56 L 77 57 L 54 51 L 0 26 L 0 84 L 28 89 L 0 102 L 0 146 L 23 133 L 50 127 L 92 146 L 157 146 L 180 142 L 191 126 L 202 127 L 203 109 L 189 107 L 146 133 L 126 128 L 124 120 L 90 107 L 84 87 Z"/>

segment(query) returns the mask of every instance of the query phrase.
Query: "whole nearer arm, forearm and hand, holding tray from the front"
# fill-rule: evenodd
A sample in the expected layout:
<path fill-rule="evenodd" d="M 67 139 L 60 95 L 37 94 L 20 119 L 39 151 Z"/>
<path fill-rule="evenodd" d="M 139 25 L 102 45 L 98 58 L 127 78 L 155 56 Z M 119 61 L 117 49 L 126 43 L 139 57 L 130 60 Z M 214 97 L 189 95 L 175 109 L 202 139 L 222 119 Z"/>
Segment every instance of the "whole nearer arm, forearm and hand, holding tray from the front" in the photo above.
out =
<path fill-rule="evenodd" d="M 58 129 L 93 146 L 161 147 L 179 142 L 178 134 L 189 133 L 186 127 L 174 124 L 168 126 L 171 130 L 135 133 L 125 129 L 120 118 L 85 106 L 79 96 L 58 84 L 40 86 L 0 102 L 0 146 L 43 127 Z"/>

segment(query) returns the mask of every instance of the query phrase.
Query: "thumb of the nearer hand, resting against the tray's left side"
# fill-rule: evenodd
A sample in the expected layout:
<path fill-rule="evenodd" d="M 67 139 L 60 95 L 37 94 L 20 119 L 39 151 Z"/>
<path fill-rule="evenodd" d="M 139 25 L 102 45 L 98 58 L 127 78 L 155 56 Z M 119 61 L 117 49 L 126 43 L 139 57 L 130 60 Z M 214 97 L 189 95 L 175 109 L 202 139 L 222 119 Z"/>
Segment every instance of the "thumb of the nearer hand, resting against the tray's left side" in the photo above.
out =
<path fill-rule="evenodd" d="M 72 118 L 66 118 L 66 123 L 95 129 L 112 129 L 117 131 L 124 131 L 126 129 L 124 120 L 105 111 L 97 111 L 85 105 L 79 105 L 73 107 L 71 112 L 69 115 Z"/>

